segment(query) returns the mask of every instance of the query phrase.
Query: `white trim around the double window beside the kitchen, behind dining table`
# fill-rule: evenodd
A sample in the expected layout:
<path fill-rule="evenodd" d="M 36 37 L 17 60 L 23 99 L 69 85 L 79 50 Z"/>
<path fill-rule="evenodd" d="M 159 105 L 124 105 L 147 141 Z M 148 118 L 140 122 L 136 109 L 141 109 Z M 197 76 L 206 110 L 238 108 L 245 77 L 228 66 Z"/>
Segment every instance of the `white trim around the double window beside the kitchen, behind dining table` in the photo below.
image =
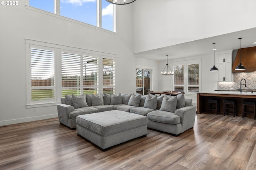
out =
<path fill-rule="evenodd" d="M 192 60 L 186 60 L 186 61 L 177 61 L 177 62 L 172 62 L 172 69 L 174 69 L 174 65 L 184 65 L 184 92 L 185 94 L 187 95 L 196 95 L 196 93 L 194 92 L 188 92 L 188 82 L 187 82 L 187 79 L 188 79 L 188 65 L 190 64 L 199 64 L 199 92 L 201 91 L 202 89 L 202 72 L 201 72 L 201 69 L 202 69 L 202 59 L 192 59 Z M 174 79 L 173 79 L 173 82 L 172 82 L 172 89 L 174 90 Z"/>

